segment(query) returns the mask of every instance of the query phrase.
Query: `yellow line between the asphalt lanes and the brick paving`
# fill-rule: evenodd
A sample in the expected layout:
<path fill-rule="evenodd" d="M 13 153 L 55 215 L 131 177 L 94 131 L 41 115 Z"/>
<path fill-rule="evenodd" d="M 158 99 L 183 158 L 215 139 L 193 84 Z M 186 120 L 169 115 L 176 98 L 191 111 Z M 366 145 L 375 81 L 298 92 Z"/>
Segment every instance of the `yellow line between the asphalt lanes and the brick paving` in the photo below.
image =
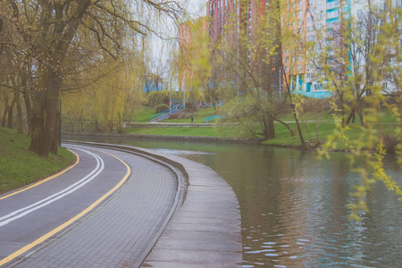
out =
<path fill-rule="evenodd" d="M 99 151 L 102 153 L 105 153 L 103 151 Z M 108 153 L 105 153 L 106 155 L 111 155 Z M 12 255 L 8 255 L 6 256 L 3 260 L 0 260 L 0 266 L 3 264 L 7 264 L 8 262 L 12 261 L 14 258 L 16 258 L 17 256 L 27 252 L 29 249 L 31 249 L 32 247 L 37 246 L 38 244 L 42 243 L 43 241 L 45 241 L 46 239 L 49 239 L 50 237 L 52 237 L 54 234 L 56 234 L 57 232 L 63 230 L 64 228 L 66 228 L 67 226 L 71 225 L 72 222 L 75 222 L 77 220 L 79 220 L 81 217 L 83 217 L 85 214 L 88 214 L 89 211 L 91 211 L 92 209 L 94 209 L 96 207 L 96 205 L 99 205 L 102 201 L 105 200 L 106 197 L 109 197 L 110 195 L 113 194 L 113 192 L 115 190 L 117 190 L 118 188 L 121 187 L 121 185 L 127 180 L 129 179 L 130 173 L 131 173 L 131 168 L 130 166 L 125 163 L 124 161 L 122 161 L 119 157 L 117 157 L 116 155 L 112 155 L 114 158 L 118 159 L 121 163 L 123 163 L 126 168 L 127 168 L 127 173 L 124 175 L 124 177 L 121 179 L 121 181 L 115 186 L 113 187 L 111 190 L 109 190 L 103 197 L 100 197 L 99 199 L 97 199 L 95 201 L 95 203 L 93 203 L 92 205 L 89 205 L 85 210 L 83 210 L 80 214 L 76 215 L 75 217 L 71 218 L 68 222 L 64 222 L 62 225 L 60 225 L 59 227 L 55 228 L 54 230 L 49 231 L 48 233 L 46 233 L 45 235 L 43 235 L 42 237 L 40 237 L 39 239 L 33 241 L 32 243 L 30 243 L 29 245 L 22 247 L 21 249 L 19 249 L 18 251 L 14 252 Z"/>

